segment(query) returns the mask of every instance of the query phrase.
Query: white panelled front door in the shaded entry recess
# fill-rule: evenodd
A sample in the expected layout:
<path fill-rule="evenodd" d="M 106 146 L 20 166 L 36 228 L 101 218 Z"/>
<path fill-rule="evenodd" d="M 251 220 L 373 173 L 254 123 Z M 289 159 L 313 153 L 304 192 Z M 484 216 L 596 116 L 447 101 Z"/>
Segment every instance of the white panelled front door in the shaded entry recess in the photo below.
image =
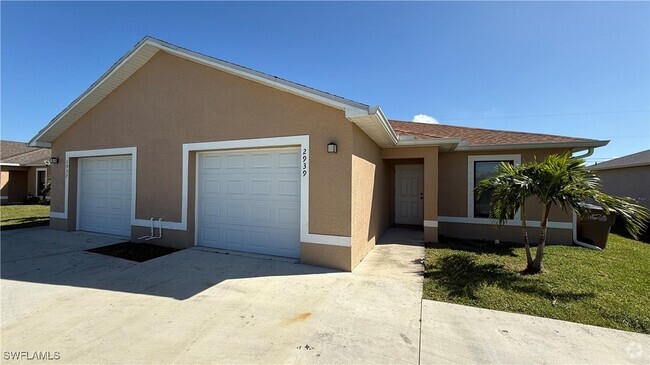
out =
<path fill-rule="evenodd" d="M 424 165 L 395 165 L 395 224 L 424 223 Z"/>

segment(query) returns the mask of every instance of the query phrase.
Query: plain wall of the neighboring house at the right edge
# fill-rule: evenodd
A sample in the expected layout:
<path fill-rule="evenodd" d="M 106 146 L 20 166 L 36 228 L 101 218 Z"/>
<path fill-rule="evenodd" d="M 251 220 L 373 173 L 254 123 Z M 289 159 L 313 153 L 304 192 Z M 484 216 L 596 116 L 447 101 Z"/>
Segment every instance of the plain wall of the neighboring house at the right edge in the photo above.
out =
<path fill-rule="evenodd" d="M 635 198 L 650 209 L 650 166 L 594 171 L 600 177 L 603 191 L 614 196 Z"/>

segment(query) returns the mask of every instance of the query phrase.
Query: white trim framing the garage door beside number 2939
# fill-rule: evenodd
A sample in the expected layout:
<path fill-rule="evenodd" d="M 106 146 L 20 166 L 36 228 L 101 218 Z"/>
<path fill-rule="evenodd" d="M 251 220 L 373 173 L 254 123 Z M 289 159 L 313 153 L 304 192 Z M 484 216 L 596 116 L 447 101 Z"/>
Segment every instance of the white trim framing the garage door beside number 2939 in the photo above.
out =
<path fill-rule="evenodd" d="M 331 236 L 309 233 L 309 136 L 289 136 L 289 137 L 272 137 L 257 139 L 242 139 L 218 142 L 199 142 L 183 144 L 183 202 L 182 202 L 182 219 L 183 226 L 187 225 L 187 197 L 188 197 L 188 177 L 189 177 L 189 158 L 190 152 L 201 151 L 218 151 L 232 149 L 251 149 L 251 148 L 272 148 L 272 147 L 291 147 L 299 146 L 301 149 L 301 160 L 304 157 L 305 164 L 301 169 L 300 179 L 300 241 L 306 243 L 316 243 L 333 246 L 350 247 L 352 240 L 346 236 Z M 325 146 L 323 146 L 325 148 Z M 195 168 L 196 169 L 196 168 Z M 194 190 L 196 221 L 196 199 L 198 190 Z M 194 245 L 196 246 L 197 234 L 196 224 L 194 233 Z"/>

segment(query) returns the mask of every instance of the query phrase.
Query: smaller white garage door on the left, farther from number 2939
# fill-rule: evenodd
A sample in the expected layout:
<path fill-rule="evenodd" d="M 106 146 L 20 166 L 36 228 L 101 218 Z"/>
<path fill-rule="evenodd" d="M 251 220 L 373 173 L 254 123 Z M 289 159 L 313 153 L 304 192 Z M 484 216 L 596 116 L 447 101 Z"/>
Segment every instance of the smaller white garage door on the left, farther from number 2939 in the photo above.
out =
<path fill-rule="evenodd" d="M 131 235 L 131 156 L 79 159 L 79 230 Z"/>

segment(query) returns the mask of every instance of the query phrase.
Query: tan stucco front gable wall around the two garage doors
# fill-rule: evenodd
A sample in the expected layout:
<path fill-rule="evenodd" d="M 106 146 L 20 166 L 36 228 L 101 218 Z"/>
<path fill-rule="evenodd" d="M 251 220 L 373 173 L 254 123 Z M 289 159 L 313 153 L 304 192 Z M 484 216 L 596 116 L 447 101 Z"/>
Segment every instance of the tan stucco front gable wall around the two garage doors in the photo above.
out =
<path fill-rule="evenodd" d="M 309 135 L 309 231 L 350 237 L 352 126 L 341 110 L 159 52 L 57 138 L 52 156 L 63 162 L 66 151 L 137 147 L 136 218 L 180 222 L 183 143 Z M 336 154 L 326 151 L 331 141 Z M 63 211 L 64 171 L 64 163 L 52 166 L 53 212 Z M 194 175 L 192 163 L 188 230 L 162 243 L 194 242 Z"/>

